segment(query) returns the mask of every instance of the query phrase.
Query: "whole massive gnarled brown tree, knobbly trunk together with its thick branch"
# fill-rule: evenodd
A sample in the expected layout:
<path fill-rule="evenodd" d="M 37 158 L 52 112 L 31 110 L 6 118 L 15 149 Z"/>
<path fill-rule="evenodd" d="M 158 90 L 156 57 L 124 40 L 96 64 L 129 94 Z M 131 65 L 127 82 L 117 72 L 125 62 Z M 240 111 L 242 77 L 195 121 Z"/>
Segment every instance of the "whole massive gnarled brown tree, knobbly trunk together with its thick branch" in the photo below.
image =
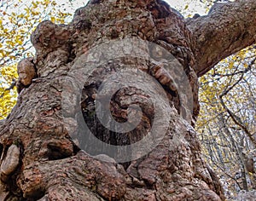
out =
<path fill-rule="evenodd" d="M 184 20 L 162 1 L 91 0 L 40 23 L 0 123 L 0 200 L 224 200 L 192 127 L 197 76 L 255 43 L 255 8 Z"/>

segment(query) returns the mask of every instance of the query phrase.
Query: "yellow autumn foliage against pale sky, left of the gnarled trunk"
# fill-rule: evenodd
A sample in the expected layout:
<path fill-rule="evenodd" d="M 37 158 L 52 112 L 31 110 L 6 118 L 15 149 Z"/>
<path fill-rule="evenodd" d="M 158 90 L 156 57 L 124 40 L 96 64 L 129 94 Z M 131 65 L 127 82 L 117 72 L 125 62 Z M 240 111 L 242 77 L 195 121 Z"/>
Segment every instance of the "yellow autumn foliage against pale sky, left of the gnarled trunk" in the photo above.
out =
<path fill-rule="evenodd" d="M 63 5 L 67 9 L 63 9 Z M 0 118 L 6 118 L 16 103 L 17 63 L 32 56 L 30 35 L 38 23 L 51 20 L 63 24 L 71 20 L 72 3 L 62 1 L 1 1 L 0 3 Z"/>

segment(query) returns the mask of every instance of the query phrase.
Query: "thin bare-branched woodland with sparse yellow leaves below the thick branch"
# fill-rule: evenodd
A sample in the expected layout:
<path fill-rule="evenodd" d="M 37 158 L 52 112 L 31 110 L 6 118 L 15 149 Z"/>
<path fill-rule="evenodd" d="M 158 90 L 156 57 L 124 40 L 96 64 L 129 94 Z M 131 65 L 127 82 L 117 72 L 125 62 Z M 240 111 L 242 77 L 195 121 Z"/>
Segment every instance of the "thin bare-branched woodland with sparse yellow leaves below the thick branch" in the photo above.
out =
<path fill-rule="evenodd" d="M 235 195 L 255 189 L 255 80 L 254 47 L 224 60 L 201 78 L 197 128 L 207 161 L 230 181 Z"/>

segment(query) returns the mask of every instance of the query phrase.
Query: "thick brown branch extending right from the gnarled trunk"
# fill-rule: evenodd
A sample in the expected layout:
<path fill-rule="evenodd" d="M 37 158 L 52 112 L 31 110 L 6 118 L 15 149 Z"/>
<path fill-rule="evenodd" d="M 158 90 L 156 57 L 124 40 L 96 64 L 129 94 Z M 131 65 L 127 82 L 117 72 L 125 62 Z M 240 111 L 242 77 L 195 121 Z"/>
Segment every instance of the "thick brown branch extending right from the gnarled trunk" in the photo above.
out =
<path fill-rule="evenodd" d="M 195 72 L 204 75 L 218 61 L 256 42 L 256 1 L 215 3 L 206 16 L 188 20 Z"/>

